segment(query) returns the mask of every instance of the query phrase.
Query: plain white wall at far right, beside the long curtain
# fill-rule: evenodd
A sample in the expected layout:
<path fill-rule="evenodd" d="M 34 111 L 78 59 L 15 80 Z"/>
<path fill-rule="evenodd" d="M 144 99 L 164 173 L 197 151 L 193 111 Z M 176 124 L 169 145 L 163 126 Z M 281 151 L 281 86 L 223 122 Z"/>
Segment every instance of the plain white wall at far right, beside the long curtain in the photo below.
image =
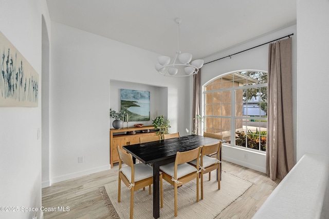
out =
<path fill-rule="evenodd" d="M 329 154 L 329 1 L 297 1 L 297 160 Z"/>

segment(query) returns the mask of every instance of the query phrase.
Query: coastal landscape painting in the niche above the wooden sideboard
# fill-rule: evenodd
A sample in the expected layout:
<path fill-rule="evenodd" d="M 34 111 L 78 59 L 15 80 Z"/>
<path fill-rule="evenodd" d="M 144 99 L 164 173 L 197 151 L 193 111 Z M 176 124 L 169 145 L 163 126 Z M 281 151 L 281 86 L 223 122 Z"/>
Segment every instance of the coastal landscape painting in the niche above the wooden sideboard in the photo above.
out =
<path fill-rule="evenodd" d="M 150 91 L 120 89 L 120 95 L 125 122 L 150 120 Z"/>

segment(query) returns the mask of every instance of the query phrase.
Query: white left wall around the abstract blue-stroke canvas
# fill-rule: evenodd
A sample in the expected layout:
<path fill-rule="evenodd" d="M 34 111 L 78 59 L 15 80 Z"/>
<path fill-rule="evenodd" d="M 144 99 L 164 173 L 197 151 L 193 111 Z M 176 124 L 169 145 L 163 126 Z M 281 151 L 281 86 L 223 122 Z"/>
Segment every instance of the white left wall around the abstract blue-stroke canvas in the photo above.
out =
<path fill-rule="evenodd" d="M 49 26 L 43 0 L 0 2 L 0 31 L 39 73 L 40 90 L 42 14 Z M 41 105 L 40 93 L 38 107 L 0 107 L 0 206 L 41 207 Z M 0 218 L 32 216 L 34 212 L 0 211 Z"/>

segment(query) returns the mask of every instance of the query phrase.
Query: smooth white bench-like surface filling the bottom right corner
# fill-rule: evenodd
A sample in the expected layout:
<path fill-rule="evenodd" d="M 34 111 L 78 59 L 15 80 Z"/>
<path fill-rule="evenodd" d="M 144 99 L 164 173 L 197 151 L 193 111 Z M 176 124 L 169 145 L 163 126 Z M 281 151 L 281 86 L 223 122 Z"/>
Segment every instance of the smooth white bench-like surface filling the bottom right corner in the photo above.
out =
<path fill-rule="evenodd" d="M 252 218 L 329 218 L 329 156 L 303 155 Z"/>

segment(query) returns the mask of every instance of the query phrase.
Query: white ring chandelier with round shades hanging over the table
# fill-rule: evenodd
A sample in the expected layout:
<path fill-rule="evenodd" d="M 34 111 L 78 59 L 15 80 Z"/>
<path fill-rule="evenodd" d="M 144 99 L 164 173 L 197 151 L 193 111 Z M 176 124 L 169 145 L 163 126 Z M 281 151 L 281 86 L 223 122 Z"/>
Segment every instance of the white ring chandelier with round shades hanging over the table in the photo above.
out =
<path fill-rule="evenodd" d="M 180 18 L 175 19 L 176 24 L 178 25 L 178 36 L 177 36 L 177 51 L 176 55 L 172 62 L 169 56 L 159 56 L 158 62 L 155 64 L 155 69 L 162 75 L 168 76 L 190 76 L 197 74 L 199 68 L 204 65 L 202 59 L 196 59 L 191 62 L 192 54 L 191 53 L 181 53 L 179 50 L 179 24 L 181 23 Z M 191 64 L 190 64 L 191 62 Z"/>

